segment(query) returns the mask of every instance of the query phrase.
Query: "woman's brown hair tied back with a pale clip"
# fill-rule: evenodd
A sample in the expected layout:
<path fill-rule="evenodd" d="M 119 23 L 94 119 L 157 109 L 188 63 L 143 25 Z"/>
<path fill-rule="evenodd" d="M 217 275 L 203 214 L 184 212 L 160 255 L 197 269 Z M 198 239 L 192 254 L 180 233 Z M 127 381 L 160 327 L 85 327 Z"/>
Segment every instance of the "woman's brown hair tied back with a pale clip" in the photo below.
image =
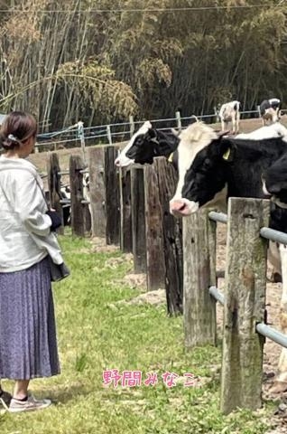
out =
<path fill-rule="evenodd" d="M 37 136 L 36 119 L 29 113 L 13 111 L 4 119 L 0 129 L 0 146 L 15 149 L 23 145 L 30 137 Z"/>

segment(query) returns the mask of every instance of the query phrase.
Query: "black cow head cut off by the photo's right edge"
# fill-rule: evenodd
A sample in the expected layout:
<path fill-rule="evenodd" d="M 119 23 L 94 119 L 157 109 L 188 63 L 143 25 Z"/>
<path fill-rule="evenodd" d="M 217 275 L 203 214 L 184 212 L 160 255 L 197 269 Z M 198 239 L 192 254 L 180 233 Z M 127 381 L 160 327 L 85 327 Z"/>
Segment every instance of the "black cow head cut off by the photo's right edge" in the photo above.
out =
<path fill-rule="evenodd" d="M 263 175 L 264 194 L 287 205 L 287 153 L 265 170 Z"/>

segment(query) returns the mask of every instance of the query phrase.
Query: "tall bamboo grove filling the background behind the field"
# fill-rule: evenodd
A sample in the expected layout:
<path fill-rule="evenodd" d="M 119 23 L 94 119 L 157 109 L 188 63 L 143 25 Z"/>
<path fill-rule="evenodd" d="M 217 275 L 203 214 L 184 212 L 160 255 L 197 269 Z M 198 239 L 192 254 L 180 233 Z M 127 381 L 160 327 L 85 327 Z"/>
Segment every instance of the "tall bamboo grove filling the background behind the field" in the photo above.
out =
<path fill-rule="evenodd" d="M 29 109 L 62 127 L 79 118 L 91 125 L 130 114 L 170 117 L 177 108 L 184 116 L 210 113 L 227 98 L 245 109 L 287 99 L 286 2 L 2 4 L 15 4 L 0 17 L 2 111 Z"/>

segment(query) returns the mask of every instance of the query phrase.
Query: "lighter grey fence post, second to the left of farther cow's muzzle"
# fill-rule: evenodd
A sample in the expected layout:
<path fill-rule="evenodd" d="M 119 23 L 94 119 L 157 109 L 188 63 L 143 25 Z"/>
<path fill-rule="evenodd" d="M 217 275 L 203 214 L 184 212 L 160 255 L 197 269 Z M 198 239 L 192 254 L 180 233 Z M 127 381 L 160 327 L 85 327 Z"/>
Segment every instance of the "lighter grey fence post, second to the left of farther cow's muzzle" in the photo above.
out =
<path fill-rule="evenodd" d="M 89 194 L 92 236 L 106 237 L 106 185 L 103 147 L 88 147 Z"/>

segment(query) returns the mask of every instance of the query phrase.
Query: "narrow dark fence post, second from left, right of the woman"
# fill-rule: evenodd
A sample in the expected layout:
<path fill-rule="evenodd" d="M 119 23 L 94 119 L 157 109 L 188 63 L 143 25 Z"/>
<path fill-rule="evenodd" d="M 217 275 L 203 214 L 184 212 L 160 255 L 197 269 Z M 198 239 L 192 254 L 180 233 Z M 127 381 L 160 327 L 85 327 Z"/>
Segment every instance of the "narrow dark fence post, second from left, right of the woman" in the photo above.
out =
<path fill-rule="evenodd" d="M 80 156 L 69 157 L 71 230 L 74 235 L 85 236 L 85 205 L 83 200 L 83 160 Z"/>

